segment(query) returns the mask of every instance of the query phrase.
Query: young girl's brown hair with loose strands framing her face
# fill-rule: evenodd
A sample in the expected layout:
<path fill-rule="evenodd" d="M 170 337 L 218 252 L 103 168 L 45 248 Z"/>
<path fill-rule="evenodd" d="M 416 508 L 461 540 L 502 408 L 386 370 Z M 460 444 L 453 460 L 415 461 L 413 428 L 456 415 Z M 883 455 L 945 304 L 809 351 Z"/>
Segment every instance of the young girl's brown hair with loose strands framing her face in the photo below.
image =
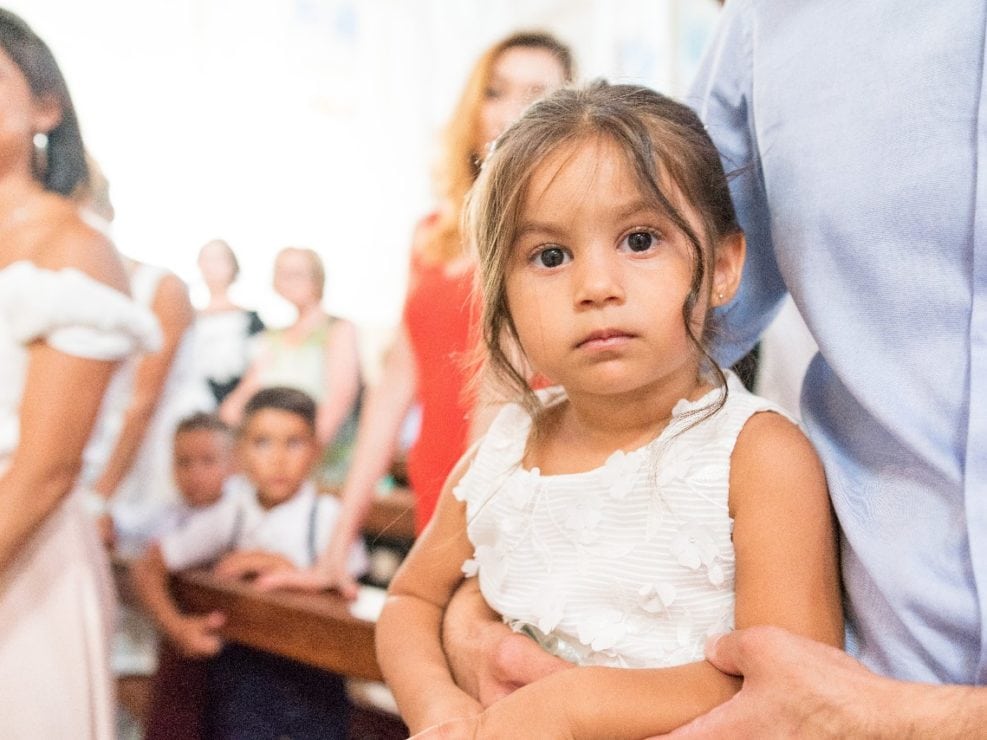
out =
<path fill-rule="evenodd" d="M 532 105 L 497 140 L 483 163 L 466 206 L 466 232 L 479 257 L 483 297 L 482 332 L 487 370 L 537 416 L 540 404 L 528 378 L 511 357 L 523 356 L 507 303 L 508 266 L 514 254 L 525 194 L 539 165 L 561 147 L 605 137 L 617 145 L 633 170 L 641 194 L 688 239 L 693 270 L 682 306 L 687 335 L 721 388 L 726 379 L 706 345 L 713 331 L 711 311 L 699 336 L 694 312 L 709 298 L 717 245 L 740 232 L 719 154 L 699 118 L 688 107 L 646 87 L 594 82 L 558 90 Z M 669 185 L 699 216 L 696 233 Z M 712 409 L 725 401 L 725 393 Z"/>

